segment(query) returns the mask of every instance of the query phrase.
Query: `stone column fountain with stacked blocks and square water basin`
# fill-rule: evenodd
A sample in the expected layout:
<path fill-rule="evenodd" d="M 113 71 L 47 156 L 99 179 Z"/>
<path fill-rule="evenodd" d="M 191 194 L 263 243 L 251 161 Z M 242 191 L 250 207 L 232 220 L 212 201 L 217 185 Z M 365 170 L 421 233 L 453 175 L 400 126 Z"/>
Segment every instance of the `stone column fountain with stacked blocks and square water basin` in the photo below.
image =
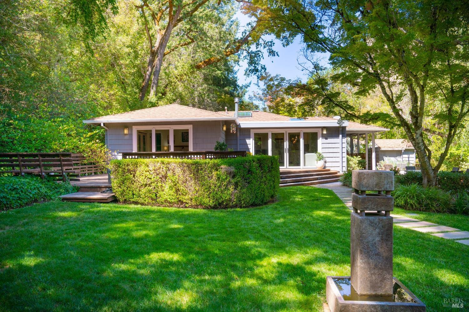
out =
<path fill-rule="evenodd" d="M 425 312 L 424 303 L 393 277 L 394 173 L 353 170 L 352 187 L 351 276 L 327 276 L 325 311 Z"/>

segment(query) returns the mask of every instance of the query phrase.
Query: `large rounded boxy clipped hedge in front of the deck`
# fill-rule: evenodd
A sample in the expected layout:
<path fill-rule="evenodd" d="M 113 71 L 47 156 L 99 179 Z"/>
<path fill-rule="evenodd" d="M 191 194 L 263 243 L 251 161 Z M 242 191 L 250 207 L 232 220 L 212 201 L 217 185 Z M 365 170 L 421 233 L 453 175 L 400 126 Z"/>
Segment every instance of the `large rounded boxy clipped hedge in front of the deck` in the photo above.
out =
<path fill-rule="evenodd" d="M 279 162 L 256 155 L 218 160 L 112 160 L 112 188 L 123 203 L 230 208 L 268 203 L 278 193 Z"/>

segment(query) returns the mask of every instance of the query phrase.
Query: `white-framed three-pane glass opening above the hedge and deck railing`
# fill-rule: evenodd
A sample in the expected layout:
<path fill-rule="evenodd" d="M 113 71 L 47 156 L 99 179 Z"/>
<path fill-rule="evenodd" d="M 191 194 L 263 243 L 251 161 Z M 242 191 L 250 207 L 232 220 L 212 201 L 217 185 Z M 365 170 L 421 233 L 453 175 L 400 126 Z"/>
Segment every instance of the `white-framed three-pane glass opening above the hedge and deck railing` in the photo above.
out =
<path fill-rule="evenodd" d="M 133 126 L 134 152 L 192 151 L 192 125 Z"/>

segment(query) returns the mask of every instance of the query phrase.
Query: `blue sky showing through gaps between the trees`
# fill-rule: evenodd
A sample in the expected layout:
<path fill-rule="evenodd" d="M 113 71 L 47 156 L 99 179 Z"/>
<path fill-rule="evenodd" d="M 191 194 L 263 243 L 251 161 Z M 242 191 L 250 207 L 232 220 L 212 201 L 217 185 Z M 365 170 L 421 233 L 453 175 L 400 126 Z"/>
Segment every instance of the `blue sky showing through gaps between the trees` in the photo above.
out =
<path fill-rule="evenodd" d="M 243 15 L 241 12 L 235 15 L 235 17 L 240 21 L 241 31 L 244 29 L 243 26 L 249 22 L 249 18 L 246 15 Z M 265 37 L 267 40 L 274 39 L 275 47 L 274 50 L 277 51 L 279 54 L 278 57 L 270 58 L 267 56 L 267 52 L 265 52 L 265 58 L 262 61 L 262 64 L 265 65 L 267 68 L 267 72 L 272 75 L 280 74 L 282 77 L 287 79 L 296 79 L 300 78 L 301 80 L 305 80 L 306 72 L 301 70 L 301 66 L 298 62 L 303 63 L 305 61 L 302 53 L 303 44 L 301 43 L 301 38 L 297 37 L 295 41 L 284 47 L 280 43 L 279 40 L 272 37 Z M 318 55 L 322 59 L 321 65 L 327 65 L 328 55 Z M 256 86 L 257 78 L 256 77 L 248 77 L 244 75 L 244 70 L 246 69 L 247 65 L 245 62 L 240 62 L 240 65 L 237 66 L 238 70 L 238 82 L 240 84 L 245 84 L 251 82 L 251 86 L 248 88 L 248 94 L 246 97 L 249 97 L 254 92 L 259 92 L 259 88 Z"/>

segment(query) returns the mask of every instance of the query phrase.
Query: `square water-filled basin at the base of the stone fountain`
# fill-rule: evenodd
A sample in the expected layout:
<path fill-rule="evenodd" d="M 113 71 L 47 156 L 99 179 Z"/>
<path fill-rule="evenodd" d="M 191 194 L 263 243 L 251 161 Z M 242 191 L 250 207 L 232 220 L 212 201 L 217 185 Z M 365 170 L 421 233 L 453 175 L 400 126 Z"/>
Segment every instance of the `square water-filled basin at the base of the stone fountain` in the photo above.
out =
<path fill-rule="evenodd" d="M 425 305 L 397 278 L 392 296 L 360 296 L 350 276 L 327 276 L 326 299 L 331 312 L 425 312 Z"/>

